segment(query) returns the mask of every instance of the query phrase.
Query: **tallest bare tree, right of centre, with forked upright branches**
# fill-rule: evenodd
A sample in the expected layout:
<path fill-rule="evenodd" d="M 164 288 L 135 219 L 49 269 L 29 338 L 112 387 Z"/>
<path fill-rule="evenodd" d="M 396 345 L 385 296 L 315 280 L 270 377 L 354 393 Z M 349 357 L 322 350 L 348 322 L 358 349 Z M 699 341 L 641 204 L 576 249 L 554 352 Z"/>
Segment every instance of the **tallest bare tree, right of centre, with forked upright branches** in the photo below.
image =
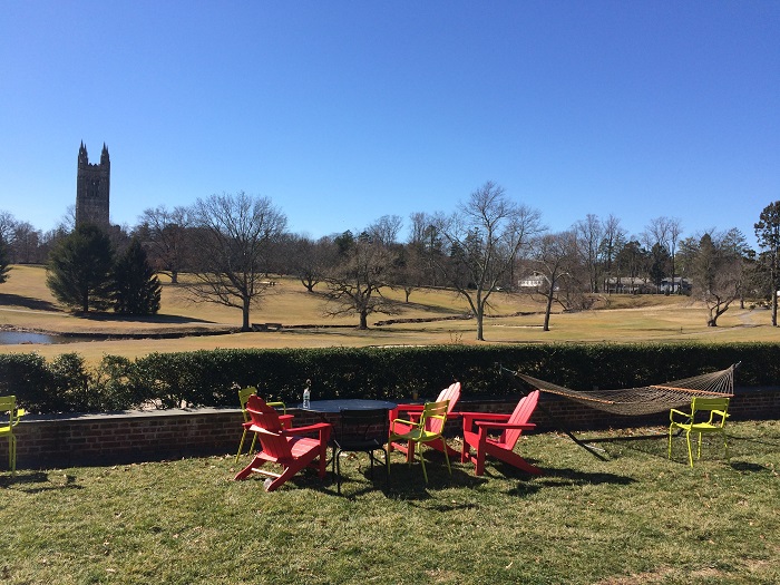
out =
<path fill-rule="evenodd" d="M 490 295 L 540 231 L 539 212 L 511 202 L 504 187 L 493 182 L 471 193 L 458 213 L 440 226 L 451 248 L 448 262 L 441 262 L 440 267 L 471 308 L 477 340 L 485 341 L 485 309 Z"/>

